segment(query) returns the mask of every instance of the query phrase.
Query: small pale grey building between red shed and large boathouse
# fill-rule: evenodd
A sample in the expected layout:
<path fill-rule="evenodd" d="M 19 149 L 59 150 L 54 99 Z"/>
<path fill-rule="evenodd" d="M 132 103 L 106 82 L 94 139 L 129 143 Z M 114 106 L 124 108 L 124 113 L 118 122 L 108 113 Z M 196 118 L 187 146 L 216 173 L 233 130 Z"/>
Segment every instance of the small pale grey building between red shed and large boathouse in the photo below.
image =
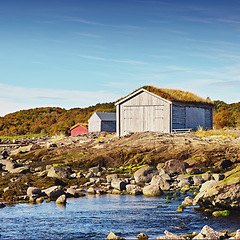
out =
<path fill-rule="evenodd" d="M 88 119 L 88 132 L 116 132 L 116 113 L 94 112 Z"/>

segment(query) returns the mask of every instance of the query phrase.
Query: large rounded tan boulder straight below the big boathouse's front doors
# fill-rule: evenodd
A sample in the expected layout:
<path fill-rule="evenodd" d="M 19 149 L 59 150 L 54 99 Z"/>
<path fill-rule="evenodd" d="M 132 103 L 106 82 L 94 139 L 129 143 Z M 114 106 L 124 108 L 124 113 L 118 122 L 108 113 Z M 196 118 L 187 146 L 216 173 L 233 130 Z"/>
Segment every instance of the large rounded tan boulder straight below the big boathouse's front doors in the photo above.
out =
<path fill-rule="evenodd" d="M 158 175 L 158 171 L 151 167 L 142 167 L 134 173 L 136 183 L 149 183 L 153 176 Z"/>

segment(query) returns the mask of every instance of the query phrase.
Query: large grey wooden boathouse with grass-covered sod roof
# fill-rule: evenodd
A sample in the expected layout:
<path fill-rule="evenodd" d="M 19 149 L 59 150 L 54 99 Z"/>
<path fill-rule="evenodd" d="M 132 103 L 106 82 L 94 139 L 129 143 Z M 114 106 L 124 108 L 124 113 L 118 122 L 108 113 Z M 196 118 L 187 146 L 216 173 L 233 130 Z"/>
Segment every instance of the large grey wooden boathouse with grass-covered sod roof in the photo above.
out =
<path fill-rule="evenodd" d="M 213 104 L 193 93 L 144 86 L 116 102 L 116 132 L 197 130 L 213 127 Z"/>

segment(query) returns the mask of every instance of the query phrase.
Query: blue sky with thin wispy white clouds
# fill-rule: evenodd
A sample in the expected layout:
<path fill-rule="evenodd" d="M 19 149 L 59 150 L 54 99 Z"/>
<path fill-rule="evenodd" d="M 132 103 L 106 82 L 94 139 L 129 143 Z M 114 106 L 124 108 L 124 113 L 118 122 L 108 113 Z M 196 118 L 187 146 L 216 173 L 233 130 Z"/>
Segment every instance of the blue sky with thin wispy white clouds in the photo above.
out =
<path fill-rule="evenodd" d="M 1 1 L 0 116 L 144 85 L 239 102 L 239 12 L 239 0 Z"/>

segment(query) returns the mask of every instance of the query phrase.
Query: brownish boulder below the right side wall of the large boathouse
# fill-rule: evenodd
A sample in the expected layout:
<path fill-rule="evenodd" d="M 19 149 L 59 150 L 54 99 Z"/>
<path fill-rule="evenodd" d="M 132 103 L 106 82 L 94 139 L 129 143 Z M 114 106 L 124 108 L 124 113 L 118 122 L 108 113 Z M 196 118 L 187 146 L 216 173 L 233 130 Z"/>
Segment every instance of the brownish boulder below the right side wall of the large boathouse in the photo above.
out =
<path fill-rule="evenodd" d="M 168 160 L 165 162 L 163 169 L 169 174 L 185 174 L 189 165 L 179 160 Z"/>

